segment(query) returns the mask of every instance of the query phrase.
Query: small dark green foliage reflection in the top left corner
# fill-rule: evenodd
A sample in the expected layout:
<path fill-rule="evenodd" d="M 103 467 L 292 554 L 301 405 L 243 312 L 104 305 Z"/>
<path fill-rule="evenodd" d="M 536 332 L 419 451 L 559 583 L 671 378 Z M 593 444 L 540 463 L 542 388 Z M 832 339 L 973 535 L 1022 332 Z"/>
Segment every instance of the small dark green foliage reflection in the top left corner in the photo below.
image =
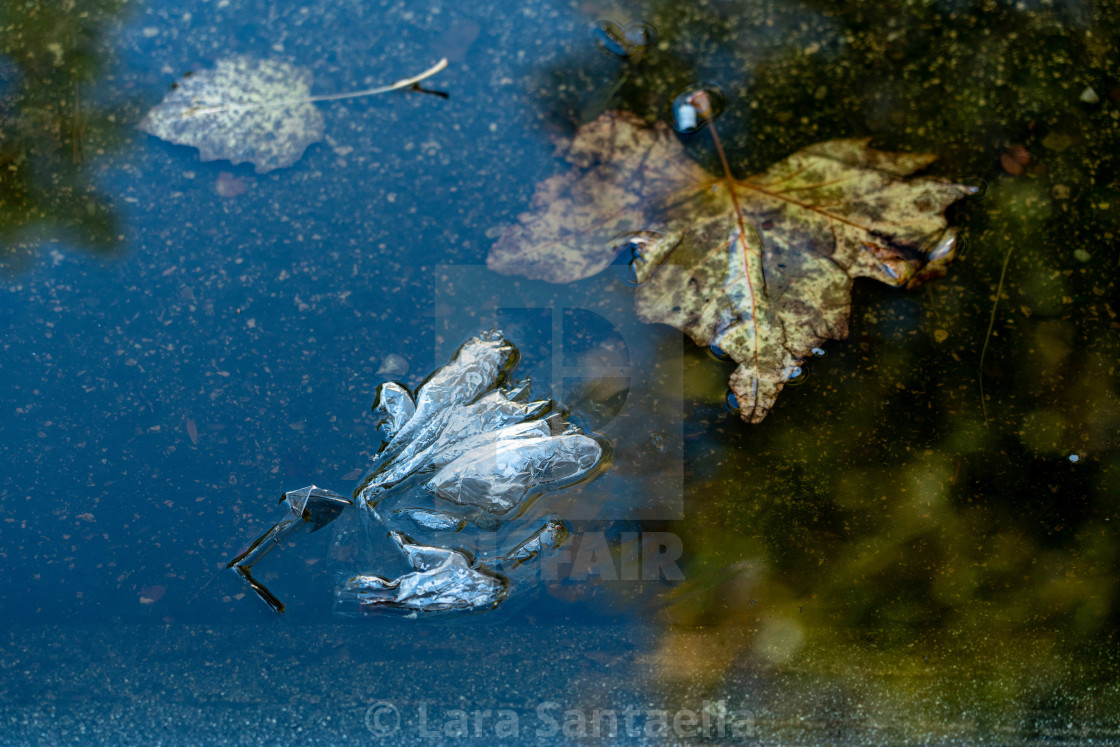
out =
<path fill-rule="evenodd" d="M 0 269 L 47 242 L 109 252 L 119 230 L 93 184 L 92 156 L 119 139 L 111 112 L 88 104 L 105 75 L 103 28 L 127 0 L 0 1 Z"/>

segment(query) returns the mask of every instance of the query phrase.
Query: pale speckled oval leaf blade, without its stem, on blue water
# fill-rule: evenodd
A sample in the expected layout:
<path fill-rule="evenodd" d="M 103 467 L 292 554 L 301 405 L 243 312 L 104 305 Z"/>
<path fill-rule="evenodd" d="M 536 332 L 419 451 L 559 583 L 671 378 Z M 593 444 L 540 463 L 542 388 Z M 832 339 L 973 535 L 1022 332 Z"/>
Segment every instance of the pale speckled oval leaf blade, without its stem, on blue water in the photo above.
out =
<path fill-rule="evenodd" d="M 323 114 L 308 101 L 310 90 L 308 69 L 278 59 L 230 57 L 213 71 L 183 78 L 138 127 L 198 148 L 204 161 L 249 161 L 264 174 L 291 166 L 323 139 Z"/>

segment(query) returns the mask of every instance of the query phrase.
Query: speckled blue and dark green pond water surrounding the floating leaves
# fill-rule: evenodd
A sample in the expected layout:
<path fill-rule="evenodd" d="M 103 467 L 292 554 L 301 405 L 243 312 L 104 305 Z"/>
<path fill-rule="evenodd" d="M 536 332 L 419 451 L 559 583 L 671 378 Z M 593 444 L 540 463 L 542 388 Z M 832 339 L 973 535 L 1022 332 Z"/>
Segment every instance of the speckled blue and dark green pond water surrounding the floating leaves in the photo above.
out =
<path fill-rule="evenodd" d="M 0 741 L 1117 743 L 1118 22 L 0 0 Z M 312 93 L 446 57 L 422 85 L 447 96 L 318 104 L 323 141 L 264 174 L 136 129 L 242 54 Z M 736 176 L 870 138 L 982 186 L 949 209 L 949 274 L 857 282 L 849 337 L 757 424 L 727 407 L 734 364 L 637 321 L 625 263 L 486 268 L 567 168 L 557 138 L 668 120 L 697 84 Z M 681 138 L 719 172 L 707 132 Z M 254 569 L 273 615 L 225 564 L 284 491 L 355 487 L 377 384 L 494 325 L 613 447 L 519 516 L 562 516 L 567 554 L 492 611 L 345 620 L 340 573 L 407 566 L 302 533 Z"/>

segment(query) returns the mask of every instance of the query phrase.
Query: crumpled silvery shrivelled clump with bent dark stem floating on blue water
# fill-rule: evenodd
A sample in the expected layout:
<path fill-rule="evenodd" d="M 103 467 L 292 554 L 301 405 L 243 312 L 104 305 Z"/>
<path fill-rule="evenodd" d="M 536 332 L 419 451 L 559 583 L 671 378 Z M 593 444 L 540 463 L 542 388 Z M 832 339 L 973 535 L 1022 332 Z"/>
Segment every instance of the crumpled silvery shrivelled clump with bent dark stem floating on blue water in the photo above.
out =
<path fill-rule="evenodd" d="M 505 553 L 496 541 L 493 552 L 473 554 L 441 540 L 496 533 L 541 494 L 592 479 L 609 463 L 601 438 L 580 431 L 551 401 L 531 401 L 528 382 L 508 382 L 517 357 L 512 343 L 489 332 L 467 340 L 414 398 L 401 384 L 382 384 L 373 410 L 389 442 L 353 497 L 314 485 L 284 493 L 288 515 L 228 567 L 282 613 L 283 604 L 253 578 L 252 566 L 304 524 L 317 531 L 356 505 L 366 536 L 374 523 L 386 527 L 412 571 L 395 579 L 344 579 L 336 591 L 342 614 L 472 611 L 500 604 L 512 587 L 508 573 L 563 544 L 567 524 L 547 519 Z M 420 542 L 413 539 L 418 532 L 433 539 Z"/>

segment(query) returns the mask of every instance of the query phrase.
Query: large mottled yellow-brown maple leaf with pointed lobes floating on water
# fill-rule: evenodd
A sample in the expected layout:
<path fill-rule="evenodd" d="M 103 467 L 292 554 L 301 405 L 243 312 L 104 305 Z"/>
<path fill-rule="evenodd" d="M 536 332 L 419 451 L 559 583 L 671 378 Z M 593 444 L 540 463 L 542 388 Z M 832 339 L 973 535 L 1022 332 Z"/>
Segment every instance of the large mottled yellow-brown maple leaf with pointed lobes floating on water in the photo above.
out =
<path fill-rule="evenodd" d="M 855 278 L 913 286 L 944 273 L 956 244 L 944 209 L 971 192 L 904 178 L 934 157 L 867 140 L 821 142 L 746 179 L 717 177 L 666 124 L 624 112 L 584 125 L 561 152 L 572 168 L 538 185 L 488 267 L 568 282 L 636 248 L 638 316 L 731 356 L 747 422 L 766 415 L 814 346 L 847 336 Z"/>

